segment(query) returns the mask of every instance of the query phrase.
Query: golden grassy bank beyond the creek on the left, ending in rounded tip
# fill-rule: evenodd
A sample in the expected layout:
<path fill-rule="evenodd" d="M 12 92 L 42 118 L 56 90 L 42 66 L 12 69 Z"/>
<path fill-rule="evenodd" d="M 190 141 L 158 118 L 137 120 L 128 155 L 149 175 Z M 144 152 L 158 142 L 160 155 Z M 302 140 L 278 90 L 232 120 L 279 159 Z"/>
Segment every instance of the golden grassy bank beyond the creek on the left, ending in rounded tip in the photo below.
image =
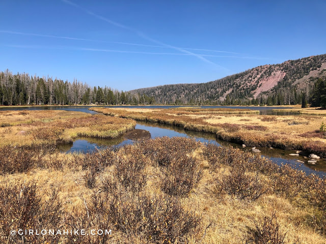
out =
<path fill-rule="evenodd" d="M 70 143 L 79 136 L 117 138 L 135 121 L 63 110 L 0 111 L 0 146 Z"/>

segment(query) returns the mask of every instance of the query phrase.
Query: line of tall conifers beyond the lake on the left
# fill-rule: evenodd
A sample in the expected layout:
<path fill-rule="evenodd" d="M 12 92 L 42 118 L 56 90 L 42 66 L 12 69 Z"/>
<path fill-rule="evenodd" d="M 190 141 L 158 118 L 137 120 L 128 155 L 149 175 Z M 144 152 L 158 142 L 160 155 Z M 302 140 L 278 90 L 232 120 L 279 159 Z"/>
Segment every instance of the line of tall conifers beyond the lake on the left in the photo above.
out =
<path fill-rule="evenodd" d="M 0 73 L 1 105 L 42 104 L 153 104 L 146 95 L 119 92 L 110 87 L 90 87 L 77 80 L 72 83 L 51 77 L 29 74 L 13 75 L 10 71 Z"/>

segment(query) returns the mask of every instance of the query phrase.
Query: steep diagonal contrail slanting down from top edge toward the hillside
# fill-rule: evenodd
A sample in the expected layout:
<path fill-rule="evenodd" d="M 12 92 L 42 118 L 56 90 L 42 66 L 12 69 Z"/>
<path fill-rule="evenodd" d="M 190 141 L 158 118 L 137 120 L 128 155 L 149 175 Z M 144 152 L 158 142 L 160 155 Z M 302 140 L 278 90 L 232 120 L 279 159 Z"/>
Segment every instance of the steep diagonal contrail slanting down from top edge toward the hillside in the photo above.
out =
<path fill-rule="evenodd" d="M 159 41 L 157 41 L 157 40 L 155 40 L 155 39 L 152 39 L 152 38 L 146 36 L 144 33 L 138 31 L 137 29 L 134 29 L 134 28 L 128 27 L 128 26 L 126 26 L 126 25 L 123 25 L 123 24 L 120 24 L 120 23 L 118 23 L 118 22 L 115 22 L 115 21 L 112 21 L 112 20 L 110 20 L 110 19 L 107 19 L 107 18 L 105 18 L 105 17 L 103 17 L 103 16 L 101 16 L 101 15 L 98 15 L 98 14 L 95 14 L 95 13 L 93 13 L 93 12 L 90 12 L 89 10 L 87 10 L 87 9 L 85 9 L 85 8 L 82 8 L 82 7 L 80 7 L 79 5 L 77 5 L 77 4 L 75 4 L 75 3 L 72 3 L 71 1 L 68 1 L 68 0 L 61 0 L 61 1 L 64 2 L 64 3 L 66 3 L 66 4 L 72 5 L 72 6 L 76 7 L 76 8 L 82 9 L 82 10 L 85 11 L 86 13 L 88 13 L 88 14 L 90 14 L 90 15 L 92 15 L 92 16 L 98 18 L 98 19 L 101 19 L 101 20 L 103 20 L 103 21 L 105 21 L 105 22 L 107 22 L 107 23 L 110 23 L 110 24 L 115 25 L 115 26 L 120 27 L 120 28 L 127 29 L 128 31 L 134 32 L 135 34 L 137 34 L 138 36 L 144 38 L 145 40 L 148 40 L 148 41 L 154 42 L 154 43 L 156 43 L 156 44 L 158 44 L 158 45 L 161 45 L 161 46 L 165 46 L 165 47 L 173 48 L 173 49 L 175 49 L 175 50 L 177 50 L 177 51 L 180 51 L 180 52 L 183 52 L 183 53 L 187 53 L 187 54 L 193 55 L 193 56 L 195 56 L 195 57 L 197 57 L 197 58 L 203 60 L 204 62 L 206 62 L 206 63 L 208 63 L 208 64 L 212 64 L 212 65 L 214 65 L 214 66 L 216 66 L 216 67 L 219 67 L 219 68 L 222 68 L 222 69 L 228 70 L 227 68 L 225 68 L 225 67 L 223 67 L 223 66 L 220 66 L 220 65 L 218 65 L 218 64 L 215 64 L 215 63 L 209 61 L 208 59 L 204 58 L 204 57 L 201 56 L 201 55 L 198 55 L 198 54 L 193 53 L 193 52 L 191 52 L 191 51 L 184 50 L 184 49 L 182 49 L 182 48 L 178 48 L 178 47 L 175 47 L 175 46 L 172 46 L 172 45 L 168 45 L 168 44 L 165 44 L 165 43 L 159 42 Z"/>

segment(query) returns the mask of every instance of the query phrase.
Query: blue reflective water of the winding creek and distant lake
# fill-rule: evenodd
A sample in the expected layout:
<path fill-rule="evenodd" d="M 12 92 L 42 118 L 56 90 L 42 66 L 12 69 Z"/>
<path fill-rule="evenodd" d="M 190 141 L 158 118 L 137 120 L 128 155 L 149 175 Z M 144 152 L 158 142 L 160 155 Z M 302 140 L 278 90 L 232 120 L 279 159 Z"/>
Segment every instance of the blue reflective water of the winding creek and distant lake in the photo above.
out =
<path fill-rule="evenodd" d="M 112 106 L 111 106 L 112 107 Z M 115 107 L 115 106 L 114 106 Z M 118 106 L 117 106 L 118 107 Z M 121 106 L 120 106 L 121 107 Z M 133 107 L 133 108 L 170 108 L 173 106 L 124 106 L 124 107 Z M 175 106 L 174 106 L 175 107 Z M 221 106 L 201 106 L 202 108 L 216 108 Z M 66 111 L 80 111 L 91 114 L 96 114 L 97 112 L 88 110 L 89 106 L 56 106 L 56 107 L 17 107 L 17 108 L 0 108 L 0 110 L 46 110 L 46 109 L 61 109 Z M 270 114 L 270 115 L 287 115 L 289 112 L 274 112 L 271 111 L 273 107 L 228 107 L 228 108 L 250 108 L 258 109 L 260 114 Z M 293 113 L 291 113 L 293 114 Z M 297 115 L 300 116 L 300 115 Z M 176 126 L 162 125 L 156 123 L 144 123 L 141 121 L 137 122 L 135 129 L 146 130 L 150 133 L 151 138 L 168 136 L 180 136 L 180 137 L 190 137 L 194 138 L 197 141 L 204 143 L 213 143 L 219 146 L 228 146 L 232 145 L 233 147 L 239 148 L 244 151 L 251 151 L 251 147 L 242 148 L 241 145 L 230 143 L 226 141 L 217 140 L 215 135 L 210 133 L 202 133 L 195 131 L 185 131 L 184 129 Z M 95 148 L 104 148 L 107 146 L 121 146 L 124 144 L 133 143 L 133 140 L 126 139 L 124 136 L 117 139 L 96 139 L 96 138 L 76 138 L 72 144 L 59 145 L 58 149 L 66 153 L 77 153 L 77 152 L 90 152 Z M 278 165 L 281 164 L 290 164 L 292 167 L 299 170 L 303 170 L 306 173 L 315 173 L 319 176 L 326 176 L 326 160 L 319 160 L 316 165 L 307 164 L 308 159 L 303 156 L 290 156 L 289 154 L 295 154 L 295 150 L 282 150 L 282 149 L 270 149 L 265 147 L 257 147 L 261 150 L 261 156 L 267 157 L 271 161 L 275 162 Z M 302 161 L 302 162 L 298 162 Z"/>

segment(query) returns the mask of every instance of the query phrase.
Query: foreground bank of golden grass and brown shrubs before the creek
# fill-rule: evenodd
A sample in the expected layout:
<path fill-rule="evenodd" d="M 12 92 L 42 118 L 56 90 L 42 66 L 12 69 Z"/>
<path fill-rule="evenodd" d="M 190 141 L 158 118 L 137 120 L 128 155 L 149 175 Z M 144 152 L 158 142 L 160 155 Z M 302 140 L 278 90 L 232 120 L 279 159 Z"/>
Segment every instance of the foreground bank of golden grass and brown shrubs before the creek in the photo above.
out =
<path fill-rule="evenodd" d="M 32 169 L 0 175 L 2 243 L 326 242 L 326 181 L 234 148 L 158 138 Z M 9 233 L 26 226 L 113 232 Z"/>

